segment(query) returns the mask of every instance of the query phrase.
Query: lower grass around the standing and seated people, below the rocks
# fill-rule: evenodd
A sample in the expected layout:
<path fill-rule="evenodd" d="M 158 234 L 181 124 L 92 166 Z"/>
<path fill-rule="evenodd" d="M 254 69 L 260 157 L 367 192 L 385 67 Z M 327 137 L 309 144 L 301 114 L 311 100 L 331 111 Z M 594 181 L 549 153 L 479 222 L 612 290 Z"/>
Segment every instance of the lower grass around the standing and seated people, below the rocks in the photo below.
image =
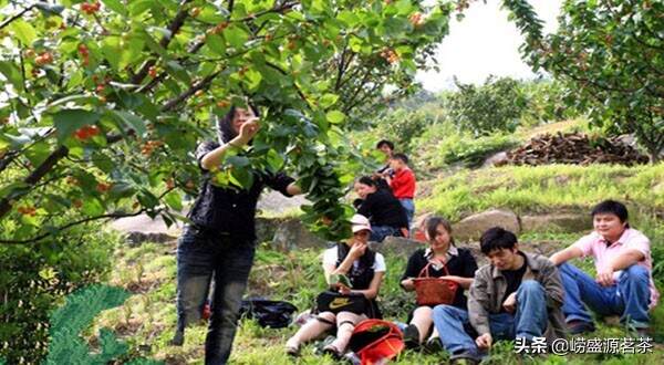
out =
<path fill-rule="evenodd" d="M 556 241 L 560 247 L 574 241 L 577 237 L 566 233 L 529 233 L 520 239 L 528 244 L 538 241 Z M 313 305 L 315 295 L 323 289 L 324 279 L 321 268 L 321 250 L 303 249 L 288 253 L 270 250 L 267 244 L 259 248 L 256 264 L 250 275 L 248 295 L 263 295 L 276 300 L 287 300 L 300 311 Z M 167 364 L 203 364 L 206 326 L 204 323 L 187 330 L 183 347 L 168 345 L 173 335 L 175 314 L 175 259 L 174 243 L 144 243 L 132 249 L 118 249 L 116 270 L 112 283 L 131 289 L 135 295 L 117 309 L 106 311 L 96 321 L 93 331 L 102 326 L 113 328 L 131 346 L 131 357 L 147 357 L 164 361 Z M 405 269 L 405 258 L 386 255 L 387 274 L 381 289 L 381 309 L 385 319 L 405 322 L 413 307 L 414 296 L 404 293 L 398 281 Z M 575 262 L 592 273 L 589 260 Z M 136 268 L 141 267 L 141 270 Z M 664 306 L 660 305 L 653 314 L 653 326 L 664 330 Z M 251 320 L 242 320 L 238 328 L 231 362 L 234 364 L 292 364 L 283 353 L 286 340 L 297 331 L 295 327 L 271 330 L 260 327 Z M 592 336 L 624 337 L 621 327 L 600 324 Z M 94 342 L 94 341 L 93 341 Z M 445 352 L 426 355 L 406 351 L 395 364 L 439 364 L 447 358 Z M 664 351 L 657 350 L 647 356 L 573 355 L 559 357 L 522 357 L 515 354 L 509 342 L 498 343 L 488 364 L 654 364 L 664 361 Z M 313 345 L 303 347 L 298 364 L 334 364 L 332 358 L 315 353 Z"/>

